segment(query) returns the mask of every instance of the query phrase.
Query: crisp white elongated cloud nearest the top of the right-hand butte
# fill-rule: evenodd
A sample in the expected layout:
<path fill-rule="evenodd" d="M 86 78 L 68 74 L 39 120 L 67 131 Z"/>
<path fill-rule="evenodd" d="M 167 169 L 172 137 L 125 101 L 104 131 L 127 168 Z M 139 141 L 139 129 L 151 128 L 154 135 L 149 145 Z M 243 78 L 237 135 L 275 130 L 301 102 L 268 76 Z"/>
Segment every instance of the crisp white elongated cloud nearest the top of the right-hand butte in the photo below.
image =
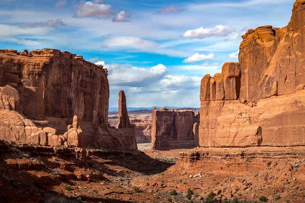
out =
<path fill-rule="evenodd" d="M 226 25 L 217 25 L 215 28 L 203 28 L 190 29 L 186 31 L 182 37 L 184 38 L 209 38 L 209 37 L 224 37 L 230 35 L 230 33 L 236 31 L 236 29 L 228 27 Z"/>

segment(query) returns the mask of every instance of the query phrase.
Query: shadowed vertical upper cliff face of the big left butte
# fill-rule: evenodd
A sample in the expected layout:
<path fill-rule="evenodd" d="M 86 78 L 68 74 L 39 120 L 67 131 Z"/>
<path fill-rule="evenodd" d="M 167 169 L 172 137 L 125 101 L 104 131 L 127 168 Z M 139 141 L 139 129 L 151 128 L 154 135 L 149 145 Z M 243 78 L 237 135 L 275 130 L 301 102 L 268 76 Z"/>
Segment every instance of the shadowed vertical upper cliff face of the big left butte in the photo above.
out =
<path fill-rule="evenodd" d="M 0 50 L 0 86 L 18 90 L 29 117 L 68 117 L 107 125 L 109 84 L 103 66 L 54 49 Z"/>

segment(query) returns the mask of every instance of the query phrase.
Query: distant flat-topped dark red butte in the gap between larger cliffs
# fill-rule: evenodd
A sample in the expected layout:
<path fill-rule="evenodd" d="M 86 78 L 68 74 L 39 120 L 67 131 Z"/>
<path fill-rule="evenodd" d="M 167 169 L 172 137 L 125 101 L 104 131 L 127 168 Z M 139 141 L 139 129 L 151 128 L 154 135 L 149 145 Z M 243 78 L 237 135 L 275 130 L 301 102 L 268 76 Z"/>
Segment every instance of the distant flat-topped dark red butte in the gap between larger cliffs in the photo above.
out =
<path fill-rule="evenodd" d="M 154 109 L 151 119 L 151 149 L 197 147 L 198 122 L 199 115 L 193 111 Z"/>

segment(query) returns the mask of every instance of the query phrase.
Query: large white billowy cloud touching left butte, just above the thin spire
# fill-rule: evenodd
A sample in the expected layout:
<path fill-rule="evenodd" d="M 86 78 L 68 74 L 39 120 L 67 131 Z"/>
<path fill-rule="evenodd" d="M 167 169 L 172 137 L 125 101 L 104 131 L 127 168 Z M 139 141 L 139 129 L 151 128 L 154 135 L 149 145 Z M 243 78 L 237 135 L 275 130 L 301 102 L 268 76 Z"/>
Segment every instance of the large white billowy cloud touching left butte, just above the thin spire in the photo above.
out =
<path fill-rule="evenodd" d="M 105 64 L 104 67 L 108 69 L 110 85 L 115 86 L 144 87 L 156 83 L 167 73 L 163 64 L 148 69 L 116 63 Z"/>

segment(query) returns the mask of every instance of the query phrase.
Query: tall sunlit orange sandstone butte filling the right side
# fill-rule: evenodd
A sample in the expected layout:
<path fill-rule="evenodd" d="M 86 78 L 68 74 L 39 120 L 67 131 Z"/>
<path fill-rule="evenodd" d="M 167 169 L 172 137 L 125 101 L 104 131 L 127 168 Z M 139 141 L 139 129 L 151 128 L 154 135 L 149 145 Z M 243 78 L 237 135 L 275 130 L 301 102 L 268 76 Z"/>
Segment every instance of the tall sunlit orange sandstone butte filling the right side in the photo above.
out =
<path fill-rule="evenodd" d="M 199 145 L 305 144 L 305 1 L 283 28 L 260 26 L 242 36 L 239 61 L 205 75 L 200 88 Z"/>

